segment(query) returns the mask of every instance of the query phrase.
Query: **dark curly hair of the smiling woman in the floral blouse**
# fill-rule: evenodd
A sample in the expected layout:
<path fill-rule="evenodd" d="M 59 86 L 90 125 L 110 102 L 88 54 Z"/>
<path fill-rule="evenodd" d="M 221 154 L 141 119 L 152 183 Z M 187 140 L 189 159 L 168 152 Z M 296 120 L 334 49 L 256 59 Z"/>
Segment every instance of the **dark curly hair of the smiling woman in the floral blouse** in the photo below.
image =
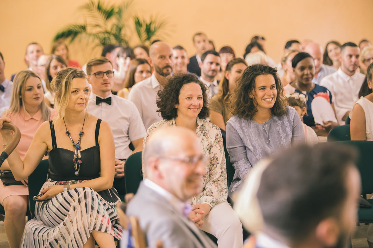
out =
<path fill-rule="evenodd" d="M 173 76 L 168 80 L 167 84 L 164 86 L 163 90 L 158 91 L 157 98 L 157 112 L 160 112 L 163 119 L 171 120 L 178 116 L 178 109 L 175 108 L 176 104 L 179 104 L 180 90 L 184 85 L 188 83 L 198 83 L 202 90 L 203 107 L 198 114 L 199 118 L 206 118 L 209 116 L 209 108 L 207 108 L 207 88 L 206 86 L 195 76 L 189 73 L 178 73 L 173 74 Z"/>

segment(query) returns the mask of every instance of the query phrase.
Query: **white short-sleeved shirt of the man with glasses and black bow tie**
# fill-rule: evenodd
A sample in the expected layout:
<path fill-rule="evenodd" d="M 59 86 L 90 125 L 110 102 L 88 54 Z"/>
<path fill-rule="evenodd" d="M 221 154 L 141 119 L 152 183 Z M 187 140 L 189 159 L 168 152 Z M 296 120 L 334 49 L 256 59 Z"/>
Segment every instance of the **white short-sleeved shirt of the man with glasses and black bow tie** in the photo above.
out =
<path fill-rule="evenodd" d="M 111 105 L 106 102 L 96 105 L 96 96 L 91 93 L 87 112 L 109 123 L 114 135 L 115 158 L 126 159 L 132 153 L 131 140 L 144 138 L 146 134 L 140 114 L 127 99 L 110 94 L 107 98 L 112 98 Z"/>

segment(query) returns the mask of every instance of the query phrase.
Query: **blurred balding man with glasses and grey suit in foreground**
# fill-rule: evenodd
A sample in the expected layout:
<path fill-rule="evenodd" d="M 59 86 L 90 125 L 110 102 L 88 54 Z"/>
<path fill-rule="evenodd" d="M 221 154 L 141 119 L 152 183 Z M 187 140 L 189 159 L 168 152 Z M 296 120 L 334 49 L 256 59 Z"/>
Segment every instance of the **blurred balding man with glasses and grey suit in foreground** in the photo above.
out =
<path fill-rule="evenodd" d="M 177 145 L 175 145 L 177 144 Z M 147 178 L 127 207 L 137 216 L 148 247 L 216 247 L 191 220 L 189 200 L 200 193 L 207 158 L 195 132 L 167 127 L 154 133 L 143 153 Z M 204 212 L 200 210 L 200 214 Z"/>

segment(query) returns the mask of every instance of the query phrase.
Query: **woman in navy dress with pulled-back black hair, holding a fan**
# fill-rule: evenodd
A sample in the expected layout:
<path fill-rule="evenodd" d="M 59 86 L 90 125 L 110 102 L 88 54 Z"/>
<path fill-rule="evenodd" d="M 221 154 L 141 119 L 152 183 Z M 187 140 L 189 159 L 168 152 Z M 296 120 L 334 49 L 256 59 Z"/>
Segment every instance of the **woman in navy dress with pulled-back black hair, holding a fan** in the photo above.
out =
<path fill-rule="evenodd" d="M 333 120 L 323 119 L 324 123 L 315 123 L 311 104 L 313 99 L 318 96 L 322 96 L 327 99 L 330 105 L 333 107 L 332 94 L 329 90 L 323 86 L 317 85 L 312 82 L 314 78 L 315 66 L 313 58 L 310 54 L 301 52 L 294 56 L 292 60 L 292 67 L 295 73 L 295 80 L 285 86 L 285 91 L 288 94 L 294 92 L 301 93 L 305 96 L 307 100 L 307 116 L 303 118 L 306 125 L 310 127 L 315 127 L 316 124 L 321 125 L 321 129 L 315 129 L 316 133 L 321 136 L 327 136 L 329 131 L 338 126 L 338 123 Z M 318 109 L 323 111 L 323 109 Z M 332 113 L 335 117 L 335 113 Z"/>

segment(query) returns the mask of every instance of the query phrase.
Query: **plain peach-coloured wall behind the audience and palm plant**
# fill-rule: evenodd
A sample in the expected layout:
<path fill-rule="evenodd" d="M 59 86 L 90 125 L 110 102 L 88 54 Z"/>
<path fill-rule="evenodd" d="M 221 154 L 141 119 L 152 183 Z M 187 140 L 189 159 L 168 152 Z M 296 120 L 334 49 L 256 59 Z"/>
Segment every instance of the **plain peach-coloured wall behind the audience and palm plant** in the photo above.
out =
<path fill-rule="evenodd" d="M 25 68 L 23 55 L 29 42 L 40 42 L 49 53 L 57 30 L 81 20 L 77 7 L 85 2 L 1 0 L 0 51 L 6 76 L 10 78 Z M 253 35 L 260 34 L 267 40 L 267 54 L 276 62 L 286 40 L 292 38 L 310 38 L 322 46 L 331 39 L 342 43 L 359 42 L 361 38 L 373 41 L 372 10 L 372 0 L 135 0 L 133 8 L 143 16 L 160 14 L 167 18 L 171 35 L 163 40 L 171 46 L 183 45 L 189 55 L 195 52 L 191 36 L 196 31 L 206 32 L 217 49 L 231 45 L 238 55 Z M 132 36 L 131 45 L 136 45 L 138 40 L 135 34 Z M 84 42 L 70 50 L 70 57 L 81 64 L 100 54 L 99 48 Z"/>

